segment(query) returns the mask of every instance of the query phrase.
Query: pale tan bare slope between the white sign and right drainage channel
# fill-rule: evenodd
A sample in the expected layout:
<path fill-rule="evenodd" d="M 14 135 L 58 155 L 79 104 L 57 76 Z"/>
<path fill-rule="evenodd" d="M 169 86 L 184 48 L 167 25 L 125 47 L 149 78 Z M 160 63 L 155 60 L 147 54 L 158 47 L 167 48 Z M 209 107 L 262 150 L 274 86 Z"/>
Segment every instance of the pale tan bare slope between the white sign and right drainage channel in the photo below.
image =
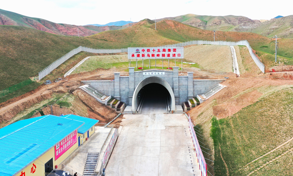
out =
<path fill-rule="evenodd" d="M 205 70 L 233 72 L 233 60 L 229 46 L 193 45 L 184 48 L 184 58 L 198 63 Z"/>

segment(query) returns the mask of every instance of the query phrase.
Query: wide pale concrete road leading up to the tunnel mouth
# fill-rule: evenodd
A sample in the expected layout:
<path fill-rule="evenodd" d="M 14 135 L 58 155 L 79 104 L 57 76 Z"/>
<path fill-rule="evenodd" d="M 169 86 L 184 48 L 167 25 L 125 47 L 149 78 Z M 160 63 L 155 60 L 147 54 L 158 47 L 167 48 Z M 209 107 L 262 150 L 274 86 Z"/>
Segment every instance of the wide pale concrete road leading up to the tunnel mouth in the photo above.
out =
<path fill-rule="evenodd" d="M 185 115 L 125 114 L 123 117 L 106 175 L 200 175 Z"/>

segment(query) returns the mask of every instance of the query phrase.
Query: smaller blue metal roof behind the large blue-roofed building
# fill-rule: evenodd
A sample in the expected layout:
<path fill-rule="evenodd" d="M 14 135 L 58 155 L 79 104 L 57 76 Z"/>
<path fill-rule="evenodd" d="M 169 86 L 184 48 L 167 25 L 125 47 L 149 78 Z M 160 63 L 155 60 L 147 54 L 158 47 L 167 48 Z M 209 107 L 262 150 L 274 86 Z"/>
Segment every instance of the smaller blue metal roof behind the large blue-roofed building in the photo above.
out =
<path fill-rule="evenodd" d="M 78 133 L 81 133 L 81 134 L 86 133 L 92 126 L 94 126 L 96 123 L 99 122 L 96 119 L 76 116 L 76 115 L 72 115 L 72 114 L 65 115 L 65 116 L 62 116 L 62 117 L 67 118 L 67 119 L 73 119 L 73 120 L 84 122 L 84 125 L 81 126 L 80 128 L 78 128 L 78 131 L 77 131 Z"/>

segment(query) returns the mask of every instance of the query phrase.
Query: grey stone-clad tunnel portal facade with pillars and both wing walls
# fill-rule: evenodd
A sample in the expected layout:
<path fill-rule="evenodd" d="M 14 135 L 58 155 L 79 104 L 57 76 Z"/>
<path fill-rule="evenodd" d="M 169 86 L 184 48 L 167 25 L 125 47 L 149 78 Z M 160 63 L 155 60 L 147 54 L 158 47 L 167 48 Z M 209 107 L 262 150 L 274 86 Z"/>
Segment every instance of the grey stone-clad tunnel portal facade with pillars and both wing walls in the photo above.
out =
<path fill-rule="evenodd" d="M 223 82 L 223 79 L 193 79 L 193 72 L 188 72 L 187 76 L 178 75 L 179 67 L 173 67 L 172 70 L 142 70 L 134 72 L 134 67 L 129 67 L 129 76 L 120 76 L 120 73 L 114 73 L 114 81 L 82 81 L 89 84 L 105 95 L 111 95 L 129 106 L 132 106 L 133 94 L 139 84 L 152 83 L 148 77 L 159 77 L 165 83 L 165 87 L 171 87 L 175 105 L 182 105 L 183 102 L 190 98 L 196 97 L 197 94 L 203 94 L 216 84 Z M 160 72 L 160 74 L 158 74 Z M 156 74 L 155 74 L 156 73 Z M 163 74 L 162 74 L 163 73 Z M 164 80 L 164 81 L 163 81 Z M 146 82 L 147 81 L 147 82 Z M 139 90 L 137 90 L 139 91 Z"/>

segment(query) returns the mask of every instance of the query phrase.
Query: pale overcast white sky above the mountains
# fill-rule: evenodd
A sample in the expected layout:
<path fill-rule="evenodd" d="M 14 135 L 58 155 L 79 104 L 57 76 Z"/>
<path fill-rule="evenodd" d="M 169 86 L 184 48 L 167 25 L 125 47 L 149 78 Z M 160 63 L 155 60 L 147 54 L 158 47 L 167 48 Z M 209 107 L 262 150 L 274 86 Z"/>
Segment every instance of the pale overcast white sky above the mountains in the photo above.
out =
<path fill-rule="evenodd" d="M 144 18 L 153 20 L 188 13 L 269 20 L 278 15 L 292 15 L 293 3 L 289 5 L 289 2 L 290 0 L 9 0 L 2 1 L 0 9 L 55 23 L 86 25 L 130 21 L 130 18 L 137 22 Z"/>

